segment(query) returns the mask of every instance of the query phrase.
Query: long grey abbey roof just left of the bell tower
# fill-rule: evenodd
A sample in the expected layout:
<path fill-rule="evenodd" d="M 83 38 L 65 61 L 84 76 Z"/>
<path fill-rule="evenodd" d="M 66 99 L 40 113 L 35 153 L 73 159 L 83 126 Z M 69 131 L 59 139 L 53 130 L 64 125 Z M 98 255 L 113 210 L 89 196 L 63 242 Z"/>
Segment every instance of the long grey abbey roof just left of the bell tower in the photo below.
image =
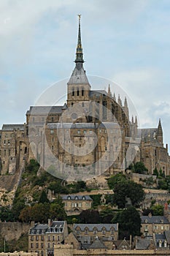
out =
<path fill-rule="evenodd" d="M 62 109 L 66 106 L 31 106 L 30 109 L 26 112 L 26 115 L 45 115 L 45 114 L 55 114 L 62 113 Z"/>

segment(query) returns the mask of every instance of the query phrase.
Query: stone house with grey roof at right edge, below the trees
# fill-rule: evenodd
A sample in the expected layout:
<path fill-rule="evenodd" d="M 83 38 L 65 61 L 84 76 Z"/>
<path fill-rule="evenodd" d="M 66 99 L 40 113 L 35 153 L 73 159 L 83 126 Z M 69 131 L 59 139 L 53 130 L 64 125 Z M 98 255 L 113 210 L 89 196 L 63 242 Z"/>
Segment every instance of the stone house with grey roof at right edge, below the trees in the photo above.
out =
<path fill-rule="evenodd" d="M 169 220 L 164 216 L 142 216 L 141 233 L 144 236 L 153 236 L 154 233 L 162 234 L 164 231 L 169 230 Z"/>

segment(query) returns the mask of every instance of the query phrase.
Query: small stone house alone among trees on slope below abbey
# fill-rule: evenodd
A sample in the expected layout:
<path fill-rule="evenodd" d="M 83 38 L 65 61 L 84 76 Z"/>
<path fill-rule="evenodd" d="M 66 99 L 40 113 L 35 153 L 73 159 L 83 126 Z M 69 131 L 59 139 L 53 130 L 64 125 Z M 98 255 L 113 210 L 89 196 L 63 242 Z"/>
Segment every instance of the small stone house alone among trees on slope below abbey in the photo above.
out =
<path fill-rule="evenodd" d="M 89 195 L 63 195 L 64 209 L 67 215 L 80 214 L 91 208 L 93 200 Z"/>

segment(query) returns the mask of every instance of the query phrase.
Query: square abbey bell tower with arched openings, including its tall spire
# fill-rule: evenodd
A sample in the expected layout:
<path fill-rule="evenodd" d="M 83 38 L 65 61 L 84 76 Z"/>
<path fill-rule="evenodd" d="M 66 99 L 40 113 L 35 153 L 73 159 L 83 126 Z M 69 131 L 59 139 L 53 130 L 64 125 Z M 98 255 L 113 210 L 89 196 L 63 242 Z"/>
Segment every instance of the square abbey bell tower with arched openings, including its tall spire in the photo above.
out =
<path fill-rule="evenodd" d="M 68 107 L 74 105 L 74 103 L 80 102 L 82 107 L 85 107 L 85 102 L 89 100 L 90 83 L 85 74 L 85 69 L 83 68 L 83 53 L 82 53 L 82 40 L 81 40 L 81 27 L 79 16 L 79 29 L 78 29 L 78 41 L 76 50 L 76 59 L 74 70 L 72 72 L 71 78 L 67 83 L 67 105 Z"/>

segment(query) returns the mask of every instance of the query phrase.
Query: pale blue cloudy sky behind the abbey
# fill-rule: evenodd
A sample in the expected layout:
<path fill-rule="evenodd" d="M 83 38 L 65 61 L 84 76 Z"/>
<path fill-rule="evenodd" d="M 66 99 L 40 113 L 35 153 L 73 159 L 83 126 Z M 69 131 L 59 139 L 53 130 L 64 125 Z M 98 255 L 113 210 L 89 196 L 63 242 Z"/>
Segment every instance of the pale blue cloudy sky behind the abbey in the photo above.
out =
<path fill-rule="evenodd" d="M 56 99 L 66 94 L 58 81 L 74 69 L 77 14 L 89 80 L 120 85 L 140 127 L 157 127 L 161 118 L 170 146 L 169 0 L 1 0 L 0 127 L 26 122 L 26 110 L 54 83 Z"/>

